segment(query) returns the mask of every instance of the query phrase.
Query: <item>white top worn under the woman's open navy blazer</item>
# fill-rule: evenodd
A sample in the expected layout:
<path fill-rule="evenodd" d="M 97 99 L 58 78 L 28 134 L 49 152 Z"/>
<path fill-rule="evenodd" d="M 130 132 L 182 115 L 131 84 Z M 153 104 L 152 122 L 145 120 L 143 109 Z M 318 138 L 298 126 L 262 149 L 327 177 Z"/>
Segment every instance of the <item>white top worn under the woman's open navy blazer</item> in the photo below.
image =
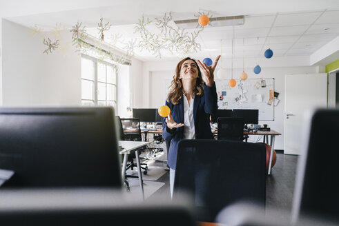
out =
<path fill-rule="evenodd" d="M 184 139 L 195 139 L 195 127 L 193 119 L 194 99 L 191 99 L 191 105 L 188 105 L 188 100 L 184 96 Z"/>

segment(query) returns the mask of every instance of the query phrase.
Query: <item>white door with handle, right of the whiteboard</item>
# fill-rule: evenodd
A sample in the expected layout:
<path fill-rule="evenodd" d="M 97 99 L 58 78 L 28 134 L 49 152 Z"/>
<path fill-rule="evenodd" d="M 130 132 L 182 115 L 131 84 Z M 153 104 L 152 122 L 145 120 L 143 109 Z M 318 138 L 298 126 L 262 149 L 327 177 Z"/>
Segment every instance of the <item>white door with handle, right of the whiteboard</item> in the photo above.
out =
<path fill-rule="evenodd" d="M 284 154 L 300 154 L 304 113 L 327 107 L 327 74 L 285 75 Z"/>

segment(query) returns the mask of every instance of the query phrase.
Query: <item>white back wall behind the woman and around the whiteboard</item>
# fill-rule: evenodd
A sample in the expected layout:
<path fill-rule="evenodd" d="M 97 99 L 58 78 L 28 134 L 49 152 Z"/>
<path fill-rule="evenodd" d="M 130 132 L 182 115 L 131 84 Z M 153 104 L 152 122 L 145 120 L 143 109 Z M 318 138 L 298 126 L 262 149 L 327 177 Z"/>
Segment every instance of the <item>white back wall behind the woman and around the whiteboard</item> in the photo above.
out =
<path fill-rule="evenodd" d="M 280 103 L 274 109 L 274 121 L 260 121 L 260 124 L 268 124 L 273 130 L 280 132 L 282 135 L 275 138 L 275 149 L 284 149 L 284 75 L 285 74 L 307 74 L 318 73 L 319 68 L 316 66 L 293 66 L 296 63 L 307 64 L 300 56 L 300 62 L 292 59 L 294 62 L 285 62 L 286 67 L 270 68 L 269 65 L 272 61 L 262 62 L 262 72 L 259 75 L 254 74 L 253 68 L 245 68 L 245 72 L 249 75 L 249 79 L 254 78 L 274 78 L 275 79 L 275 92 L 279 92 L 278 99 Z M 278 61 L 283 61 L 278 59 Z M 273 63 L 275 64 L 275 63 Z M 144 96 L 143 104 L 139 107 L 159 107 L 164 104 L 166 99 L 166 92 L 164 92 L 164 84 L 166 79 L 173 79 L 173 74 L 177 61 L 153 61 L 144 63 L 144 90 L 136 90 L 137 94 Z M 233 69 L 233 77 L 239 78 L 242 72 L 242 62 L 235 62 L 238 68 Z M 254 63 L 253 63 L 254 65 Z M 227 66 L 227 65 L 226 65 Z M 226 68 L 227 74 L 231 77 L 231 69 Z M 215 70 L 217 72 L 217 69 Z M 154 81 L 152 81 L 154 80 Z M 155 86 L 156 85 L 156 86 Z M 250 141 L 256 141 L 258 137 L 252 137 Z"/>

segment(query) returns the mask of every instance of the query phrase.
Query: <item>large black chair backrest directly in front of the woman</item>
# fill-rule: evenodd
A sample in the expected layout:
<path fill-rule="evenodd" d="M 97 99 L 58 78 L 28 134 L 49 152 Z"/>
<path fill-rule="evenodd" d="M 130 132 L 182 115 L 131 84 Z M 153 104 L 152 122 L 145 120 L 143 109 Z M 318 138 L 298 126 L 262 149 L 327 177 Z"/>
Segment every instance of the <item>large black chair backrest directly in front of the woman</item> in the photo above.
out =
<path fill-rule="evenodd" d="M 182 140 L 178 144 L 173 199 L 195 198 L 197 220 L 213 221 L 235 201 L 265 204 L 264 145 L 238 141 Z M 200 212 L 201 211 L 201 212 Z"/>

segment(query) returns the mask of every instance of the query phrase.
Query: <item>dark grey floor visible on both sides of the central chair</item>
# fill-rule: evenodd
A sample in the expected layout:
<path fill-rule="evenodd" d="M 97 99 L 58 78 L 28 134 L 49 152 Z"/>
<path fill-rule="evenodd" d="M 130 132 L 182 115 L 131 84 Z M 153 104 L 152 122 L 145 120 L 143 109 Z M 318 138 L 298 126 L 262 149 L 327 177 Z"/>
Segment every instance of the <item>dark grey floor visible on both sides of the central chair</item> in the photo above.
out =
<path fill-rule="evenodd" d="M 277 153 L 277 161 L 272 168 L 271 175 L 266 181 L 266 211 L 281 210 L 284 212 L 282 218 L 289 217 L 291 212 L 293 189 L 296 179 L 296 167 L 298 156 Z M 162 166 L 161 161 L 153 161 L 151 165 Z M 157 181 L 165 183 L 153 196 L 170 197 L 170 186 L 168 172 Z M 286 214 L 287 213 L 287 214 Z"/>

